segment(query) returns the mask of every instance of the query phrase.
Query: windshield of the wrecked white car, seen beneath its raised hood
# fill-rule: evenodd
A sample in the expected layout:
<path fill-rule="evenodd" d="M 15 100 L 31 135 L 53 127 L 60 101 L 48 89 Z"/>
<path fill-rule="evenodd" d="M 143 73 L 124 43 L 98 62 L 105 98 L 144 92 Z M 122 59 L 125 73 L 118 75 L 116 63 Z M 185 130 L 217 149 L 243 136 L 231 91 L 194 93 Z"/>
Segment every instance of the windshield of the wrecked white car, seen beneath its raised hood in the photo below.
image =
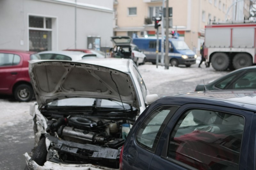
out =
<path fill-rule="evenodd" d="M 130 105 L 123 103 L 125 109 L 131 109 Z M 104 107 L 113 109 L 123 109 L 123 105 L 118 101 L 94 98 L 69 98 L 50 102 L 46 107 Z"/>

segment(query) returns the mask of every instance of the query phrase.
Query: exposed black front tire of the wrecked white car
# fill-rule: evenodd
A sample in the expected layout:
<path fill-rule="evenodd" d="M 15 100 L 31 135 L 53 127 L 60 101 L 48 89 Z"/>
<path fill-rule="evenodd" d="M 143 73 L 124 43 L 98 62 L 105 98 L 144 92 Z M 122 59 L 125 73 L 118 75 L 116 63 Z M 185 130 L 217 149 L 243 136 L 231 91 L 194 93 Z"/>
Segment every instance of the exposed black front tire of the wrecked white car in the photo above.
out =
<path fill-rule="evenodd" d="M 47 155 L 47 150 L 46 150 L 46 145 L 45 145 L 45 137 L 40 139 L 38 142 L 38 145 L 30 159 L 34 160 L 38 165 L 43 166 L 44 162 L 46 162 L 46 155 Z"/>

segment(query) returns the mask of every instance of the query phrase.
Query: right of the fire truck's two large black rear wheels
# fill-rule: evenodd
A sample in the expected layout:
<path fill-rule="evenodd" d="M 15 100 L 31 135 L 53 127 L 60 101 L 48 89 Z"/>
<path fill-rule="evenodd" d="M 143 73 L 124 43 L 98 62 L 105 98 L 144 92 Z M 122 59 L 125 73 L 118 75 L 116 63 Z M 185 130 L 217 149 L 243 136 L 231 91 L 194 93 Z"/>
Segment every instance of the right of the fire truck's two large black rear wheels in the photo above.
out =
<path fill-rule="evenodd" d="M 252 65 L 252 57 L 246 53 L 238 53 L 235 55 L 232 63 L 235 69 L 248 67 Z"/>

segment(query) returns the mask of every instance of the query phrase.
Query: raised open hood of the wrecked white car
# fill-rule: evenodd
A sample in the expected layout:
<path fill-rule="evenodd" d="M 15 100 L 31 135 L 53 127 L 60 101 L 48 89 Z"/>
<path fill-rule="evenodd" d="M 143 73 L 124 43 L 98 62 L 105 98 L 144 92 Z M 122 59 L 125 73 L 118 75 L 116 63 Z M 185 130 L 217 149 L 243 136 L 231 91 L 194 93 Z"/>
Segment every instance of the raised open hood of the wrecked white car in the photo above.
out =
<path fill-rule="evenodd" d="M 110 99 L 139 108 L 132 79 L 122 71 L 88 63 L 31 60 L 29 75 L 39 108 L 72 97 Z"/>

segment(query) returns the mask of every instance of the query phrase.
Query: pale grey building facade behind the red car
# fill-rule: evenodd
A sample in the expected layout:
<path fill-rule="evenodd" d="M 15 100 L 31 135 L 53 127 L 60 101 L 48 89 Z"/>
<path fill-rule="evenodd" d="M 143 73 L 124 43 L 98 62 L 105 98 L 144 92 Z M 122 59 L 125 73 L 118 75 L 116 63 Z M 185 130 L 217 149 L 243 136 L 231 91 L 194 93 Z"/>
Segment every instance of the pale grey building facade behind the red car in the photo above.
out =
<path fill-rule="evenodd" d="M 113 0 L 0 0 L 0 48 L 112 46 Z"/>

